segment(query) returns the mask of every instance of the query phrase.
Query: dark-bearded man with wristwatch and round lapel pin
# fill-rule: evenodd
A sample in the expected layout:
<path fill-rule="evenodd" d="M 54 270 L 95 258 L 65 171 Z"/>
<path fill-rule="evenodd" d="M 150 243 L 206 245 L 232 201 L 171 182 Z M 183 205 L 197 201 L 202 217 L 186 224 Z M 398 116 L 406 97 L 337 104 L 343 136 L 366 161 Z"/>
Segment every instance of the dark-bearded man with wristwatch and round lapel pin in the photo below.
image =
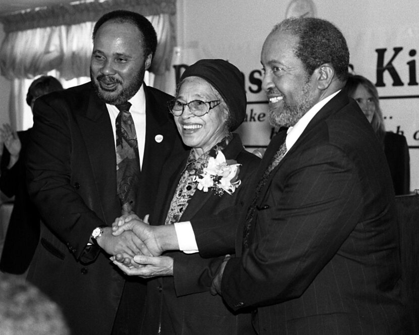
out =
<path fill-rule="evenodd" d="M 91 82 L 35 102 L 28 189 L 42 225 L 28 280 L 61 306 L 74 335 L 138 330 L 133 316 L 140 313 L 145 287 L 126 281 L 109 260 L 142 248 L 132 233 L 116 238 L 109 227 L 123 213 L 116 105 L 131 103 L 136 138 L 130 144 L 138 143 L 131 161 L 140 164 L 140 172 L 132 175 L 139 180 L 130 205 L 143 216 L 152 209 L 164 161 L 184 150 L 166 105 L 172 97 L 143 83 L 156 44 L 143 16 L 108 13 L 93 30 Z"/>

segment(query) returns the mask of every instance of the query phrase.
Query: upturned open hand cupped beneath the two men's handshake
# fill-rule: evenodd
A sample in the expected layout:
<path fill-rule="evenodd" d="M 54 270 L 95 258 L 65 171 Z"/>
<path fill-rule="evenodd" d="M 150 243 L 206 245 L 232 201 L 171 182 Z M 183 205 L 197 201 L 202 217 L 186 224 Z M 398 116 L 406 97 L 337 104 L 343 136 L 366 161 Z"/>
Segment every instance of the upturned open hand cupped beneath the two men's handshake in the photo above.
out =
<path fill-rule="evenodd" d="M 125 274 L 138 275 L 143 278 L 151 278 L 162 275 L 173 275 L 173 258 L 169 256 L 150 257 L 150 256 L 135 256 L 132 265 L 125 265 L 113 259 Z"/>

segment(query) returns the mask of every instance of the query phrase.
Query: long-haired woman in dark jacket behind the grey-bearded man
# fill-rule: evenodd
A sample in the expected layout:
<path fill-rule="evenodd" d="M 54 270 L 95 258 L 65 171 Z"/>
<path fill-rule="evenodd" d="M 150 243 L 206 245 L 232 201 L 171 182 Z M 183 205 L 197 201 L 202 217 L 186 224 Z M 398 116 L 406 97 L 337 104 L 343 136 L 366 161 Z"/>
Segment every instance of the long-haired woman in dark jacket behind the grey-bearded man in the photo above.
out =
<path fill-rule="evenodd" d="M 377 88 L 365 77 L 350 75 L 346 82 L 346 90 L 361 107 L 383 145 L 395 194 L 408 194 L 410 192 L 410 159 L 407 141 L 401 134 L 386 132 Z"/>

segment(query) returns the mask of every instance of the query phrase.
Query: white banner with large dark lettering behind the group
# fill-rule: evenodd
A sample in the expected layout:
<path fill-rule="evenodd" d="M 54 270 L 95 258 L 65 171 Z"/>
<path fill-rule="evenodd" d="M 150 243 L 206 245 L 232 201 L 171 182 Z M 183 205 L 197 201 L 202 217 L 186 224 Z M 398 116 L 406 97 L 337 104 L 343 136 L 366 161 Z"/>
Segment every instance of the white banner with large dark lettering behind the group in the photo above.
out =
<path fill-rule="evenodd" d="M 403 134 L 407 139 L 411 189 L 417 189 L 419 169 L 414 166 L 419 165 L 419 28 L 369 31 L 365 27 L 359 35 L 345 37 L 354 73 L 368 78 L 378 89 L 386 130 Z M 220 43 L 206 46 L 207 49 L 197 44 L 186 49 L 176 47 L 171 80 L 175 83 L 188 65 L 201 58 L 223 58 L 236 65 L 244 75 L 248 101 L 246 119 L 237 132 L 249 150 L 266 147 L 274 130 L 268 122 L 267 98 L 261 89 L 261 45 L 222 40 Z"/>

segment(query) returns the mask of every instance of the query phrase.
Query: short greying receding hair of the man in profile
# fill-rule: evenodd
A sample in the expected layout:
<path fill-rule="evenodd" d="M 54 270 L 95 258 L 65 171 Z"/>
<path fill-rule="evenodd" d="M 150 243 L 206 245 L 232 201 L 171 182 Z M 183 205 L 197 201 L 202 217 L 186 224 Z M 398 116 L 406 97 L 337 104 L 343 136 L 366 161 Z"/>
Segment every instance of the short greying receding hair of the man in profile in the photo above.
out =
<path fill-rule="evenodd" d="M 286 31 L 299 38 L 294 53 L 309 75 L 322 64 L 330 63 L 336 77 L 346 81 L 349 49 L 345 37 L 332 23 L 318 18 L 290 18 L 278 23 L 271 34 Z"/>

